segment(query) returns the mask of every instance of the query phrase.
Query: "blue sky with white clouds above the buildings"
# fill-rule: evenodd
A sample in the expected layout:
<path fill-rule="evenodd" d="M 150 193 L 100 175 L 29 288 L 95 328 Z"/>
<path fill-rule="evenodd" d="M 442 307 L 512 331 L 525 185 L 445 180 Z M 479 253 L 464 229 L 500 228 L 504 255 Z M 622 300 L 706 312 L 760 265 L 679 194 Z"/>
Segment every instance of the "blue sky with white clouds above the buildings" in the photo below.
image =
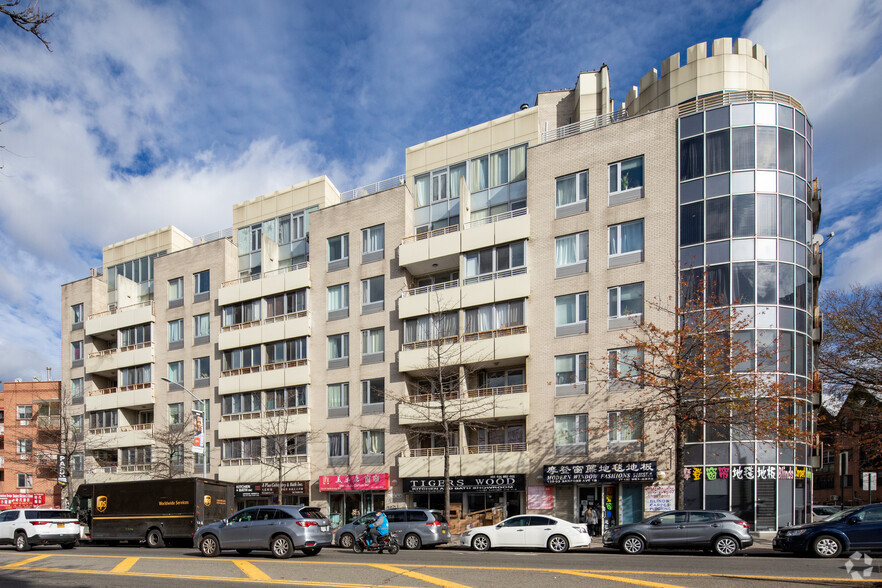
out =
<path fill-rule="evenodd" d="M 410 145 L 610 66 L 624 100 L 663 59 L 747 37 L 815 124 L 825 283 L 882 281 L 882 3 L 43 0 L 0 22 L 0 382 L 60 376 L 60 286 L 103 245 L 327 174 L 402 173 Z"/>

